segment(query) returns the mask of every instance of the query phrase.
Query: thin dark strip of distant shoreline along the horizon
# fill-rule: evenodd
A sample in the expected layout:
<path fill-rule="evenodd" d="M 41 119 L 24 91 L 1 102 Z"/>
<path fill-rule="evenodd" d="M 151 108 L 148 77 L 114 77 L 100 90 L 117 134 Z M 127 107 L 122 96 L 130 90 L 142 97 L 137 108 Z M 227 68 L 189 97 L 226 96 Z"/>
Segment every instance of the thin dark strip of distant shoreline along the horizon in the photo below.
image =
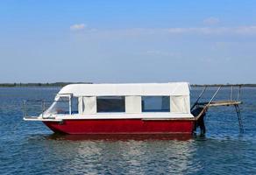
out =
<path fill-rule="evenodd" d="M 53 82 L 53 83 L 0 83 L 0 88 L 24 88 L 24 87 L 64 87 L 68 84 L 93 84 L 92 82 Z M 191 87 L 231 87 L 242 86 L 256 88 L 256 84 L 191 84 Z"/>

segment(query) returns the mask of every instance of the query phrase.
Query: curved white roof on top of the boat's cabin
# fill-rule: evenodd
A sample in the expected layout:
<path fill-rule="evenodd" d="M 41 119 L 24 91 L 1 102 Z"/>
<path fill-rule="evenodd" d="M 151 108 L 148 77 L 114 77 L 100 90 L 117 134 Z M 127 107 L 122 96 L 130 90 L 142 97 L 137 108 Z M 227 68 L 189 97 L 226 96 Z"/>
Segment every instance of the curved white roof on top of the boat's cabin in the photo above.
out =
<path fill-rule="evenodd" d="M 129 84 L 70 84 L 59 95 L 129 96 L 129 95 L 189 95 L 188 82 L 129 83 Z"/>

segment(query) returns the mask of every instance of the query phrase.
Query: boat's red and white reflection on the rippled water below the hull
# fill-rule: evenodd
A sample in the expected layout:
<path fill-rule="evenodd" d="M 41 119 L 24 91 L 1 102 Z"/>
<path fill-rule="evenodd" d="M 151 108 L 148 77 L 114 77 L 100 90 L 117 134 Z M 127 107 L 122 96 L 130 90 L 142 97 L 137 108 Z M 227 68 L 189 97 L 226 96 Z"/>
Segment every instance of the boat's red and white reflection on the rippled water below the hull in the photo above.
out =
<path fill-rule="evenodd" d="M 50 152 L 68 158 L 61 171 L 73 174 L 156 174 L 197 172 L 191 135 L 57 135 Z M 56 154 L 57 152 L 57 154 Z M 59 168 L 59 167 L 57 167 Z"/>

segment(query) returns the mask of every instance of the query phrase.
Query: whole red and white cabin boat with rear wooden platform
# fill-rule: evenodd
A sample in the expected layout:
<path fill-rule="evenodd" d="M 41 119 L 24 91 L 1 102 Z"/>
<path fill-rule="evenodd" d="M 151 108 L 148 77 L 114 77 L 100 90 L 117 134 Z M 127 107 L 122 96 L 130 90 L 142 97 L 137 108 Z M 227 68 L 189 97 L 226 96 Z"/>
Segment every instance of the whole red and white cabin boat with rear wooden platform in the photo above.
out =
<path fill-rule="evenodd" d="M 188 82 L 70 84 L 39 116 L 27 116 L 24 103 L 24 120 L 40 121 L 55 133 L 71 135 L 191 135 L 197 126 L 205 133 L 203 116 L 210 105 L 240 104 L 212 102 L 214 97 L 199 103 L 202 95 L 190 108 Z"/>

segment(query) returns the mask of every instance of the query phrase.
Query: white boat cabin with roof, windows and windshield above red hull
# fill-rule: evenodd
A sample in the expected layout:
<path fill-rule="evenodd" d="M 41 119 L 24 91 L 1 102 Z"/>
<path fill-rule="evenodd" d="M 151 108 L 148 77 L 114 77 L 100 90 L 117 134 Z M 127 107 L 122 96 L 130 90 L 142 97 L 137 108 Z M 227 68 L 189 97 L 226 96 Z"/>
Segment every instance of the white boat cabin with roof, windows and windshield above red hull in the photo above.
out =
<path fill-rule="evenodd" d="M 43 118 L 190 118 L 188 82 L 71 84 L 60 89 Z"/>

